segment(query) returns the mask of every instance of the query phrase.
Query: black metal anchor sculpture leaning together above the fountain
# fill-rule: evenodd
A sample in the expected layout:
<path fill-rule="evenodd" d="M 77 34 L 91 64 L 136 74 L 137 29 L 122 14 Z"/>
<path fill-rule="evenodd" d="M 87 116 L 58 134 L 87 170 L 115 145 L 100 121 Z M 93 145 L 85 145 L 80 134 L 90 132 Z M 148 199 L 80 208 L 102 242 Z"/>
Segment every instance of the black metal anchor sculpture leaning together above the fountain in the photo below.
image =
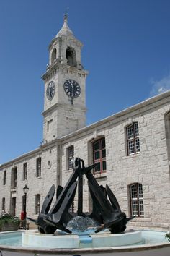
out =
<path fill-rule="evenodd" d="M 73 174 L 65 187 L 58 186 L 56 192 L 56 201 L 50 209 L 53 197 L 55 195 L 55 185 L 50 188 L 48 195 L 42 205 L 41 212 L 37 220 L 27 218 L 37 224 L 40 233 L 54 234 L 57 229 L 71 234 L 71 230 L 67 228 L 67 224 L 76 216 L 89 217 L 97 223 L 97 230 L 95 233 L 103 229 L 109 229 L 111 233 L 120 233 L 125 231 L 126 224 L 131 219 L 127 218 L 125 213 L 122 213 L 120 205 L 117 202 L 115 195 L 112 193 L 109 186 L 106 188 L 99 186 L 97 180 L 91 174 L 91 169 L 95 167 L 84 166 L 84 161 L 76 158 Z M 83 213 L 83 175 L 88 179 L 89 192 L 93 202 L 92 213 Z M 78 179 L 78 182 L 76 181 Z M 78 184 L 78 211 L 77 213 L 70 213 L 69 208 L 74 200 L 76 188 Z M 108 200 L 109 198 L 109 200 Z"/>

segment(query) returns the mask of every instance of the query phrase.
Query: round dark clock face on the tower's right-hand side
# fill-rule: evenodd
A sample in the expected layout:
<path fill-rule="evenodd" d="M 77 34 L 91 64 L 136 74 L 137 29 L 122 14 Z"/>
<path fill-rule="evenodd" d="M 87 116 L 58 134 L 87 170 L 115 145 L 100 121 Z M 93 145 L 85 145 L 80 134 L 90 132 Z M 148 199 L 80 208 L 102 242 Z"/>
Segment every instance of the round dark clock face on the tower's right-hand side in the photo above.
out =
<path fill-rule="evenodd" d="M 75 80 L 72 80 L 72 79 L 66 80 L 66 82 L 64 82 L 63 87 L 65 90 L 65 93 L 71 99 L 79 97 L 79 95 L 81 93 L 80 85 Z"/>

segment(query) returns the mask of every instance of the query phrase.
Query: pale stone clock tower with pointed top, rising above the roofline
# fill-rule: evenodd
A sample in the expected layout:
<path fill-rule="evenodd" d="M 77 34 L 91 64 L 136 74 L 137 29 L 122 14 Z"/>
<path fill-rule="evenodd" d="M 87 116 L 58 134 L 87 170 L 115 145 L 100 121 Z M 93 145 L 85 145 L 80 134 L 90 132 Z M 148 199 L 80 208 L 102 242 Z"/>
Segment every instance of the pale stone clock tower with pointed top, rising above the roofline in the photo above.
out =
<path fill-rule="evenodd" d="M 45 82 L 43 140 L 49 142 L 86 125 L 86 76 L 81 64 L 83 44 L 64 16 L 63 27 L 49 45 Z"/>

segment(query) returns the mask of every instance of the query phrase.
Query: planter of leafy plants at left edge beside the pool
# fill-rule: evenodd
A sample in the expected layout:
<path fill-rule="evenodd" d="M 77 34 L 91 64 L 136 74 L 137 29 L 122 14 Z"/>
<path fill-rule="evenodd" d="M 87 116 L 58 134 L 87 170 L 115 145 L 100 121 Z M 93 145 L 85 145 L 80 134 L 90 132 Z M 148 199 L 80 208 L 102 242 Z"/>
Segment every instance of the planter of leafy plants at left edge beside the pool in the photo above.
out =
<path fill-rule="evenodd" d="M 14 231 L 19 229 L 19 217 L 5 213 L 0 216 L 0 231 Z"/>

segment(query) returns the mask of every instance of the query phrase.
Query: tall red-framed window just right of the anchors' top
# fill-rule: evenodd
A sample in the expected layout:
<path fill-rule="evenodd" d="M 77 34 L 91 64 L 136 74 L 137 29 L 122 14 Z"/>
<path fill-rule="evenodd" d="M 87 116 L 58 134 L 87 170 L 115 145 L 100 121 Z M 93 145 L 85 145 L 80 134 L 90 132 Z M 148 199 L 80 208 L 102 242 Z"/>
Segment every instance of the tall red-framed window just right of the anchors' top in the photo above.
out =
<path fill-rule="evenodd" d="M 94 168 L 94 174 L 102 173 L 107 170 L 106 145 L 104 138 L 93 143 L 93 158 L 94 163 L 97 163 L 97 166 Z"/>

